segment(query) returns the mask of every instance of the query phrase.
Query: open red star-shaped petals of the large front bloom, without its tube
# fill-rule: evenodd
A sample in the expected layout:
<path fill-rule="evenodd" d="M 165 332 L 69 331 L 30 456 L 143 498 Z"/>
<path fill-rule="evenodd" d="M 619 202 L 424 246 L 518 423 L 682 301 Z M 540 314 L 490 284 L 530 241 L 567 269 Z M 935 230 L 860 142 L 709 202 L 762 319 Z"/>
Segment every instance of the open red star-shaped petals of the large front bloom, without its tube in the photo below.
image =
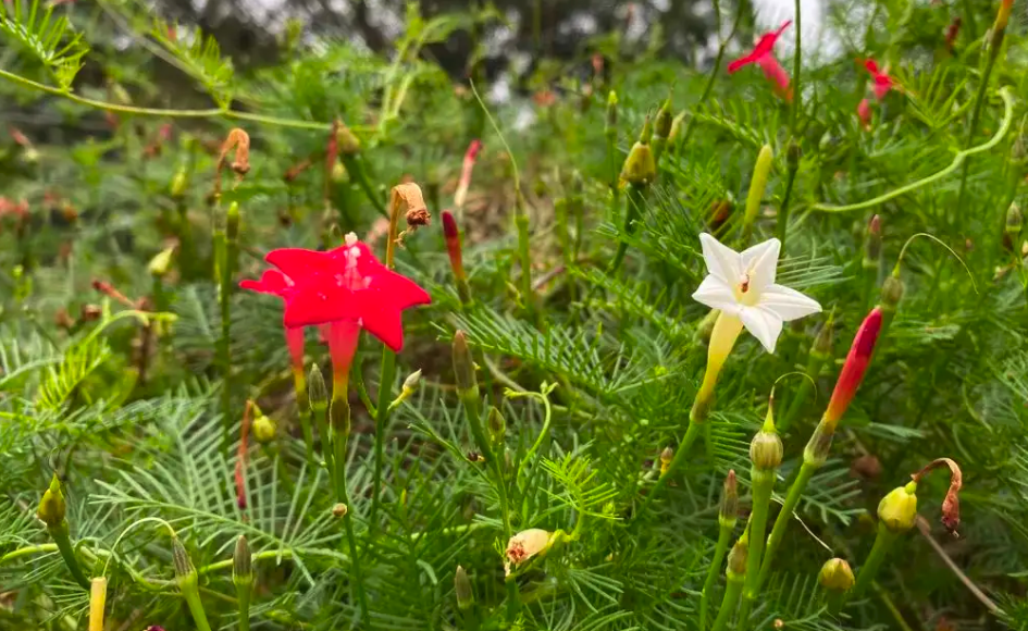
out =
<path fill-rule="evenodd" d="M 399 351 L 404 347 L 401 312 L 432 301 L 413 281 L 380 263 L 352 233 L 342 247 L 326 252 L 285 248 L 269 252 L 265 260 L 287 281 L 283 286 L 268 279 L 267 285 L 285 299 L 287 329 L 354 322 Z M 261 283 L 265 284 L 264 277 Z"/>

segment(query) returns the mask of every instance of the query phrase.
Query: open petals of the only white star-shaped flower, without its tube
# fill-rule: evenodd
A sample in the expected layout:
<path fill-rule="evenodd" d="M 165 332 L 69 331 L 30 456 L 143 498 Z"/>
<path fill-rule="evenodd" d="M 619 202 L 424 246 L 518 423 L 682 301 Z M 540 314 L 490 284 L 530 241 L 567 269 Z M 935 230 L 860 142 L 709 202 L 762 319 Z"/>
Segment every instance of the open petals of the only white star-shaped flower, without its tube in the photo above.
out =
<path fill-rule="evenodd" d="M 742 252 L 706 233 L 699 235 L 699 243 L 707 263 L 707 277 L 693 299 L 742 320 L 743 326 L 768 352 L 775 352 L 783 322 L 821 310 L 817 300 L 775 284 L 782 247 L 778 239 L 766 240 Z"/>

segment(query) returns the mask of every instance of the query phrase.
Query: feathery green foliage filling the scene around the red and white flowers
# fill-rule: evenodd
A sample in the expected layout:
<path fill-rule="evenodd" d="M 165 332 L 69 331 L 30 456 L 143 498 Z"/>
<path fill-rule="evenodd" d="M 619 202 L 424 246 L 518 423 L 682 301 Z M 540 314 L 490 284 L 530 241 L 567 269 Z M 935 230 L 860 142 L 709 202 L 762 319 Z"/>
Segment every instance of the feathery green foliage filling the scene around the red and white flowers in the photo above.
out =
<path fill-rule="evenodd" d="M 716 7 L 718 21 L 736 9 Z M 890 273 L 902 300 L 734 628 L 1025 628 L 1028 267 L 1026 233 L 1004 226 L 1012 202 L 1028 206 L 1028 58 L 1017 20 L 1001 49 L 983 47 L 994 9 L 880 0 L 840 61 L 804 64 L 792 102 L 757 70 L 727 76 L 723 55 L 696 71 L 654 58 L 660 34 L 633 44 L 619 30 L 495 79 L 512 90 L 494 102 L 503 90 L 484 60 L 510 25 L 492 5 L 429 15 L 410 3 L 387 57 L 288 25 L 273 61 L 250 63 L 135 3 L 0 4 L 0 92 L 18 103 L 0 139 L 0 629 L 85 628 L 88 594 L 67 555 L 108 579 L 107 628 L 194 628 L 173 533 L 212 628 L 239 623 L 243 534 L 255 628 L 697 629 L 728 471 L 743 507 L 734 537 L 750 441 L 773 405 L 784 460 L 770 527 Z M 952 51 L 943 13 L 964 20 Z M 741 17 L 727 46 L 755 35 Z M 485 104 L 436 61 L 466 41 L 456 74 Z M 597 51 L 605 74 L 590 63 Z M 896 89 L 880 100 L 852 62 L 867 57 L 891 63 Z M 867 125 L 855 114 L 865 95 Z M 685 116 L 656 181 L 612 188 L 668 98 Z M 335 122 L 359 150 L 333 136 Z M 218 171 L 235 127 L 250 139 L 246 173 L 232 151 Z M 485 148 L 454 199 L 475 138 Z M 775 161 L 743 225 L 765 145 Z M 344 160 L 326 160 L 340 147 Z M 361 335 L 339 488 L 325 460 L 344 425 L 312 419 L 308 450 L 281 300 L 236 283 L 260 277 L 271 249 L 334 248 L 349 232 L 385 260 L 376 207 L 407 177 L 432 218 L 402 234 L 396 270 L 433 301 L 405 311 L 395 371 Z M 444 209 L 461 231 L 469 296 L 437 228 Z M 874 213 L 881 251 L 869 258 Z M 775 282 L 831 310 L 834 342 L 812 360 L 826 313 L 785 323 L 773 354 L 744 332 L 690 447 L 714 324 L 692 298 L 710 272 L 704 232 L 736 250 L 784 235 Z M 939 242 L 908 240 L 924 233 Z M 323 332 L 307 329 L 304 368 L 331 375 Z M 458 331 L 476 391 L 456 385 Z M 420 383 L 402 386 L 416 370 Z M 244 429 L 251 401 L 274 428 L 263 444 Z M 493 408 L 505 423 L 483 437 L 473 421 L 484 426 Z M 482 461 L 483 440 L 495 461 Z M 924 521 L 837 615 L 819 568 L 841 557 L 859 577 L 879 499 L 940 457 L 963 469 L 959 539 L 937 525 L 948 485 L 933 472 L 918 483 Z M 70 553 L 35 517 L 53 473 Z M 530 529 L 546 532 L 511 539 Z M 458 566 L 469 607 L 457 604 Z M 707 595 L 713 609 L 723 584 Z"/>

